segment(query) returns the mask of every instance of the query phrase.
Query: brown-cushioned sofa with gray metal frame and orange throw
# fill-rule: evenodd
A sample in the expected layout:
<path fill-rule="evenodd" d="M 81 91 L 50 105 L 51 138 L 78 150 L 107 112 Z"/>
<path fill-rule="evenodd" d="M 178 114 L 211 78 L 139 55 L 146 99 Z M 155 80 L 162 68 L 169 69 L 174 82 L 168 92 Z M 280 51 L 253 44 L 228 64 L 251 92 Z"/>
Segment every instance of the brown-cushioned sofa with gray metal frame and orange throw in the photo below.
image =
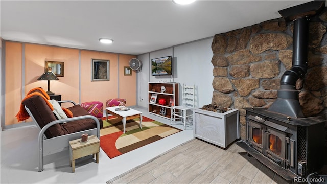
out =
<path fill-rule="evenodd" d="M 56 112 L 58 108 L 56 109 L 55 104 L 51 104 L 50 97 L 42 88 L 30 90 L 21 102 L 20 111 L 16 115 L 18 121 L 31 117 L 40 128 L 39 171 L 43 170 L 43 156 L 67 150 L 69 141 L 80 138 L 84 133 L 96 134 L 100 138 L 100 129 L 103 127 L 101 118 L 91 116 L 73 101 L 58 101 L 58 103 L 66 102 L 73 103 L 73 106 L 62 108 L 67 117 L 63 119 L 60 117 L 61 114 L 58 116 Z"/>

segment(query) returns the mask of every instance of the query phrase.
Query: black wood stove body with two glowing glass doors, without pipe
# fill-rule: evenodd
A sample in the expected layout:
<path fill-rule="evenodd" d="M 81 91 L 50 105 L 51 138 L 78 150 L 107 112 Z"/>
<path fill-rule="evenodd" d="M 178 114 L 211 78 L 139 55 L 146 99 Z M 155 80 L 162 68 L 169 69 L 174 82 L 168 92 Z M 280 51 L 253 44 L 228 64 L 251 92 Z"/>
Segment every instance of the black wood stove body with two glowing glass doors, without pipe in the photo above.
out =
<path fill-rule="evenodd" d="M 245 109 L 246 141 L 237 144 L 250 155 L 286 180 L 306 177 L 322 168 L 325 120 L 291 118 L 263 108 Z"/>

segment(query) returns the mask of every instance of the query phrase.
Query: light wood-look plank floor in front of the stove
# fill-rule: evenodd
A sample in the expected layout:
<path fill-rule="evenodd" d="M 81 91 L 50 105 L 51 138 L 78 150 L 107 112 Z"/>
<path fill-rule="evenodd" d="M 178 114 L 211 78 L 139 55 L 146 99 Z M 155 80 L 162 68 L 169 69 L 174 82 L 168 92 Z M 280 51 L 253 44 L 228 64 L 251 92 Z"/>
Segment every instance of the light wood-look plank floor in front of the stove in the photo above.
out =
<path fill-rule="evenodd" d="M 236 144 L 223 150 L 194 139 L 107 183 L 287 182 Z"/>

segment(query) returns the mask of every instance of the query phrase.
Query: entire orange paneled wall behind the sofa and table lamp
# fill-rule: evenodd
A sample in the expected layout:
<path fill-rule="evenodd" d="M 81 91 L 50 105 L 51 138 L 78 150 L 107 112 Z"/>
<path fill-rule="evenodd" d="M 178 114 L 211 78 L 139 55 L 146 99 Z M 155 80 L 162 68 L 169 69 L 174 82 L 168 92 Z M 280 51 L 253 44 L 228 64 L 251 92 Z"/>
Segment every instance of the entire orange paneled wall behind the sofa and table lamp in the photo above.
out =
<path fill-rule="evenodd" d="M 97 100 L 105 107 L 106 100 L 127 96 L 128 106 L 136 105 L 136 74 L 124 76 L 123 72 L 123 66 L 128 66 L 129 59 L 136 57 L 134 55 L 25 43 L 25 55 L 22 56 L 23 43 L 5 41 L 5 46 L 5 125 L 21 123 L 17 122 L 15 116 L 19 111 L 23 95 L 22 80 L 25 83 L 25 94 L 34 87 L 48 90 L 48 81 L 37 80 L 44 72 L 45 60 L 64 62 L 64 77 L 50 81 L 50 90 L 61 94 L 62 100 L 73 100 L 76 103 Z M 81 63 L 79 63 L 79 53 L 81 53 Z M 25 68 L 22 68 L 22 57 L 25 57 Z M 110 61 L 110 81 L 91 81 L 91 59 Z M 25 72 L 25 76 L 22 76 L 22 71 Z M 80 81 L 79 75 L 81 75 Z M 69 106 L 70 103 L 62 104 L 62 107 Z"/>

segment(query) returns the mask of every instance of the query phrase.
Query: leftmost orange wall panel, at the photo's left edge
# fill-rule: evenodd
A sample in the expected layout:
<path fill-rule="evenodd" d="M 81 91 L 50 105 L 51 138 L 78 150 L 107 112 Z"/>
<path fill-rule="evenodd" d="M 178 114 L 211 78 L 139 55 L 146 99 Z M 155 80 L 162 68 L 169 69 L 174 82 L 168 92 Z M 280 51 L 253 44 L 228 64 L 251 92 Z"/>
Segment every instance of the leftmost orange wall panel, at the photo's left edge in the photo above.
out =
<path fill-rule="evenodd" d="M 21 102 L 22 43 L 5 43 L 5 125 L 17 124 L 16 114 Z"/>

